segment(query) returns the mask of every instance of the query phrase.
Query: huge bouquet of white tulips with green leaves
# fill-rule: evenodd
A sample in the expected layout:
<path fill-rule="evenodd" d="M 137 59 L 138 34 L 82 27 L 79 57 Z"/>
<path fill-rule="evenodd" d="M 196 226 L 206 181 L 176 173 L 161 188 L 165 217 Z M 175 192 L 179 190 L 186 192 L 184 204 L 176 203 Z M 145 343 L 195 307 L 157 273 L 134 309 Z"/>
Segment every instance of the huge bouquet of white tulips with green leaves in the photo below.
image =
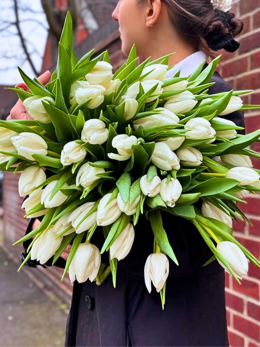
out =
<path fill-rule="evenodd" d="M 20 70 L 30 92 L 13 89 L 33 120 L 0 121 L 0 169 L 22 171 L 25 216 L 43 216 L 17 242 L 33 238 L 23 264 L 53 256 L 55 264 L 72 244 L 63 276 L 69 271 L 71 281 L 101 284 L 112 272 L 115 286 L 117 262 L 130 252 L 145 214 L 154 237 L 145 283 L 150 292 L 153 282 L 164 305 L 168 258 L 178 265 L 163 228 L 160 211 L 166 211 L 199 230 L 213 253 L 204 265 L 217 259 L 240 283 L 248 260 L 260 267 L 232 236 L 233 219 L 249 222 L 237 206 L 243 192 L 260 192 L 260 170 L 249 158 L 260 155 L 248 149 L 260 130 L 239 135 L 242 128 L 223 116 L 258 108 L 237 96 L 250 91 L 209 97 L 220 57 L 187 78 L 169 79 L 171 54 L 137 66 L 133 46 L 115 74 L 107 51 L 93 54 L 77 61 L 68 14 L 51 82 L 45 87 Z M 201 209 L 194 205 L 199 199 Z M 94 232 L 104 239 L 102 249 L 91 243 Z"/>

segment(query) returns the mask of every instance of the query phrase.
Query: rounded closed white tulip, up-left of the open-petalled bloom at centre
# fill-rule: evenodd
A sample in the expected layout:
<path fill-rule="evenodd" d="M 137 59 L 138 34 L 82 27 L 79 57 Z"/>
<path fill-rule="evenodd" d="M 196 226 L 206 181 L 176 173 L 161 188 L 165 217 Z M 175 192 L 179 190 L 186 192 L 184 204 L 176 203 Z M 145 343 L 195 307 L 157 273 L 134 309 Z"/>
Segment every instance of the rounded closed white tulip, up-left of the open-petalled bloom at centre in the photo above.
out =
<path fill-rule="evenodd" d="M 100 119 L 89 119 L 81 132 L 81 140 L 92 145 L 102 145 L 108 138 L 108 129 Z"/>

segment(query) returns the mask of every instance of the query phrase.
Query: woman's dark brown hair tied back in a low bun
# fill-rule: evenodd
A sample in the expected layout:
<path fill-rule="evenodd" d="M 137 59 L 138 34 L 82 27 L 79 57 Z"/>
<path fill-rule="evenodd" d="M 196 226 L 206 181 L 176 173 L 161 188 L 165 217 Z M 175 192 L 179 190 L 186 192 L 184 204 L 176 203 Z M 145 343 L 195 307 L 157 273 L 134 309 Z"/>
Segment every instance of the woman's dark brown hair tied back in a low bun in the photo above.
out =
<path fill-rule="evenodd" d="M 146 0 L 137 0 L 144 3 Z M 167 6 L 174 28 L 198 50 L 212 56 L 212 51 L 224 48 L 234 52 L 239 42 L 234 37 L 241 33 L 243 22 L 231 12 L 214 9 L 210 0 L 161 0 Z"/>

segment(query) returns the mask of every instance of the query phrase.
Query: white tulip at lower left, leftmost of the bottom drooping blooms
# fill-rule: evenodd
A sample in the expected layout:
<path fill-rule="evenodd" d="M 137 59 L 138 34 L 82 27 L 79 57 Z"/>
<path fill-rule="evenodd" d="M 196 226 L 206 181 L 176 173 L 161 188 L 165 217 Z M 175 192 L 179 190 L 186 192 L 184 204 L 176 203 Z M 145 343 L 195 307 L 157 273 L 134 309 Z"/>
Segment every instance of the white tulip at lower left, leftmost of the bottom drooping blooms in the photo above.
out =
<path fill-rule="evenodd" d="M 45 264 L 60 247 L 63 237 L 59 237 L 57 240 L 56 234 L 53 232 L 53 227 L 46 229 L 40 237 L 34 242 L 31 251 L 31 259 L 37 259 L 40 264 Z"/>

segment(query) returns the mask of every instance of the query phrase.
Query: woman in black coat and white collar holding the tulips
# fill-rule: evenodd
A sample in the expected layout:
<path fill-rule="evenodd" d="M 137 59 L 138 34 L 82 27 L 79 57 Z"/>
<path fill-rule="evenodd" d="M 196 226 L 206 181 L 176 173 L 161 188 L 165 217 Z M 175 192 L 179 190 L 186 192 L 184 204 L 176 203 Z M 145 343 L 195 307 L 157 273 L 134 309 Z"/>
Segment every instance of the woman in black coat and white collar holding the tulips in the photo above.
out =
<path fill-rule="evenodd" d="M 243 24 L 222 11 L 227 3 L 221 10 L 218 0 L 212 2 L 120 0 L 112 17 L 120 24 L 123 53 L 128 55 L 133 43 L 139 56 L 151 60 L 177 52 L 169 59 L 170 66 L 176 64 L 168 71 L 171 78 L 179 70 L 181 76 L 190 75 L 211 50 L 234 52 L 239 44 L 233 38 Z M 211 82 L 209 94 L 231 89 L 217 73 Z M 19 112 L 11 117 L 19 118 Z M 244 126 L 242 112 L 226 118 Z M 149 294 L 145 287 L 153 233 L 143 217 L 129 255 L 118 263 L 115 289 L 111 276 L 101 286 L 74 282 L 67 346 L 228 346 L 224 269 L 217 261 L 202 267 L 212 253 L 189 221 L 165 214 L 163 222 L 179 261 L 176 266 L 169 259 L 164 311 L 158 293 Z M 97 230 L 92 237 L 98 247 L 104 242 L 101 235 Z M 109 264 L 107 254 L 102 262 Z"/>

